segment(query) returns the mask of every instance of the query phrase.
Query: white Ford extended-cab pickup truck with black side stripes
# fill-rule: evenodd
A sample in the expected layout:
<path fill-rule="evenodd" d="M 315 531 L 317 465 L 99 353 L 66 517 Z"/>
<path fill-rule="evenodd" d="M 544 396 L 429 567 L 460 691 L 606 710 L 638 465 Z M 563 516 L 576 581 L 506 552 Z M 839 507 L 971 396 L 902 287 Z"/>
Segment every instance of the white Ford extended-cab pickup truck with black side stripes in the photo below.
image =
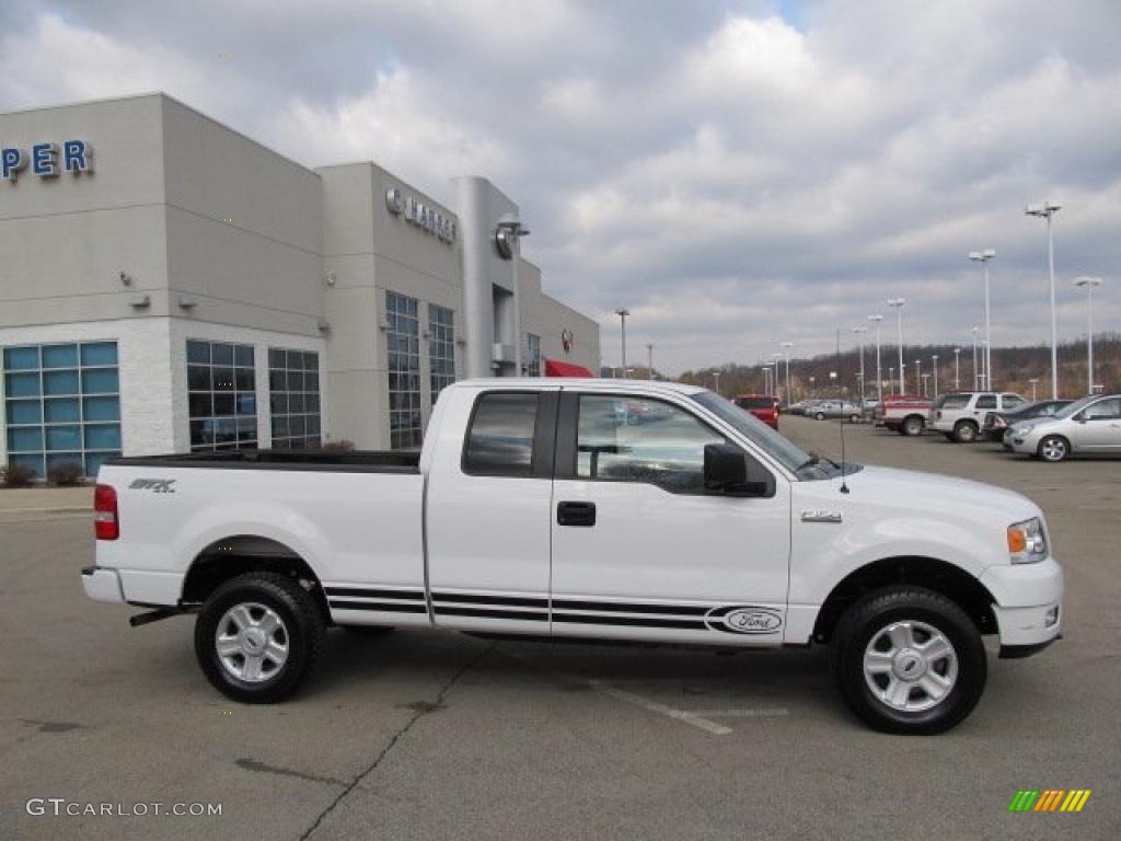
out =
<path fill-rule="evenodd" d="M 1059 637 L 1043 514 L 1007 490 L 837 464 L 704 389 L 482 380 L 417 454 L 118 459 L 85 592 L 197 613 L 206 677 L 278 701 L 328 626 L 712 647 L 828 644 L 881 730 L 964 719 L 1001 656 Z"/>

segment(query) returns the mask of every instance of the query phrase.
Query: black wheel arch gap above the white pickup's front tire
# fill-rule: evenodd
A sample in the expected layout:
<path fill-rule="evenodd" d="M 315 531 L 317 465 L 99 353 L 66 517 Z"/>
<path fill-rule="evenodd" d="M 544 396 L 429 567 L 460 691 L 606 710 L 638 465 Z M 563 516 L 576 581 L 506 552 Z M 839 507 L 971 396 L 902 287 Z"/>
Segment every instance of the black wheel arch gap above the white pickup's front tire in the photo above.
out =
<path fill-rule="evenodd" d="M 935 557 L 887 557 L 845 575 L 830 591 L 814 622 L 813 640 L 828 643 L 841 614 L 865 593 L 891 584 L 925 586 L 958 604 L 981 634 L 997 634 L 995 599 L 976 577 Z"/>

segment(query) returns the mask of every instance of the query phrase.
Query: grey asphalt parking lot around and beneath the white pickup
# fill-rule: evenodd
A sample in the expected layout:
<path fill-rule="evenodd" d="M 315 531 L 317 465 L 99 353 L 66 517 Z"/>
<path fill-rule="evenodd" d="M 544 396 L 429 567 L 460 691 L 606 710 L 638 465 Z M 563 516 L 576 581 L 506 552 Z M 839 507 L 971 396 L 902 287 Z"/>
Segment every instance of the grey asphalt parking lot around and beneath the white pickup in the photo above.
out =
<path fill-rule="evenodd" d="M 835 423 L 782 424 L 840 452 Z M 947 734 L 864 729 L 822 650 L 419 631 L 332 631 L 295 700 L 237 706 L 196 667 L 191 619 L 130 629 L 84 599 L 87 514 L 30 509 L 0 516 L 0 837 L 1117 838 L 1121 461 L 1049 465 L 868 426 L 849 427 L 847 458 L 1019 490 L 1066 564 L 1066 639 L 991 659 L 980 706 Z M 1093 794 L 1080 814 L 1010 814 L 1020 788 Z M 52 797 L 222 813 L 27 813 Z"/>

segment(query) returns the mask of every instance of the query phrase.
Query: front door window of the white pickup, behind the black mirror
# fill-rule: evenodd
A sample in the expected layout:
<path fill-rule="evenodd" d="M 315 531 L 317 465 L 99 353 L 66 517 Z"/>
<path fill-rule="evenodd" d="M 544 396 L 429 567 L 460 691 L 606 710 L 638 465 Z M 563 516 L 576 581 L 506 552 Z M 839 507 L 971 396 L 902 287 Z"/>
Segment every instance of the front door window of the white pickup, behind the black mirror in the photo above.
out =
<path fill-rule="evenodd" d="M 580 398 L 576 475 L 702 493 L 704 447 L 723 443 L 723 435 L 670 404 L 584 395 Z"/>

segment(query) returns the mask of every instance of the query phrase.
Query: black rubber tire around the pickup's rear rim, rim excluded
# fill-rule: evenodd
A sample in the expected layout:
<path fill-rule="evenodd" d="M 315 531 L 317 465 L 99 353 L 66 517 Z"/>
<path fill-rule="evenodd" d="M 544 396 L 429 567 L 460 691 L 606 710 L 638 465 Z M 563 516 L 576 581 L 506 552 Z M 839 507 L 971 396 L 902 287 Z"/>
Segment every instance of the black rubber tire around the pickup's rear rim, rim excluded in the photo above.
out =
<path fill-rule="evenodd" d="M 233 673 L 240 658 L 241 668 L 248 675 L 249 657 L 233 654 L 228 658 L 231 665 L 226 665 L 217 650 L 219 625 L 223 621 L 228 637 L 233 635 L 234 639 L 241 640 L 244 636 L 244 631 L 235 634 L 240 626 L 230 618 L 230 611 L 238 606 L 245 607 L 256 621 L 265 622 L 267 611 L 280 621 L 280 626 L 272 631 L 259 629 L 257 636 L 263 635 L 263 644 L 253 639 L 243 643 L 267 646 L 276 641 L 282 643 L 286 648 L 282 664 L 274 664 L 271 672 L 265 658 L 254 658 L 266 664 L 259 667 L 261 674 L 256 680 L 242 680 Z M 266 627 L 263 623 L 260 626 Z M 270 704 L 291 695 L 312 674 L 323 651 L 325 631 L 322 609 L 295 579 L 272 572 L 251 572 L 225 582 L 205 601 L 195 622 L 195 656 L 206 680 L 226 697 L 251 704 Z M 268 663 L 271 664 L 271 660 Z"/>

